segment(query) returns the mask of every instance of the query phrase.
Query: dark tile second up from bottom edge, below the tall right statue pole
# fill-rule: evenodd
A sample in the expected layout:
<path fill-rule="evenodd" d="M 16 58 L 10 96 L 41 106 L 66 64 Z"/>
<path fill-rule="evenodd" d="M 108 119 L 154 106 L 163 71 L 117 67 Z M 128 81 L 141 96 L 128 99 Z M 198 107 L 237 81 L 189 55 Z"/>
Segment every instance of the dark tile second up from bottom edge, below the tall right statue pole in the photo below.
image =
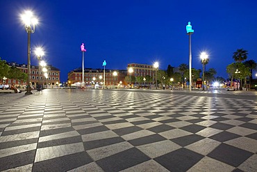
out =
<path fill-rule="evenodd" d="M 171 141 L 173 141 L 174 143 L 177 143 L 180 146 L 188 146 L 191 143 L 197 142 L 201 139 L 204 139 L 204 136 L 199 136 L 197 134 L 191 134 L 188 136 L 181 136 L 175 139 L 170 139 Z"/>

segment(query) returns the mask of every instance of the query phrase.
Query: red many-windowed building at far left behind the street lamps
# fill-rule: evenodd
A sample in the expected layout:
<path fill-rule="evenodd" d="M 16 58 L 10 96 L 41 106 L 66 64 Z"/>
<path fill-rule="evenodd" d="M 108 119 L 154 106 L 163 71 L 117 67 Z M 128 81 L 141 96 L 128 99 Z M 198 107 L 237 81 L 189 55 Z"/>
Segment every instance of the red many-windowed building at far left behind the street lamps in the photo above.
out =
<path fill-rule="evenodd" d="M 15 67 L 19 70 L 21 70 L 24 73 L 28 73 L 27 65 L 25 64 L 18 64 L 15 62 L 8 63 L 8 65 L 11 67 Z M 60 84 L 60 70 L 58 68 L 53 67 L 52 65 L 47 65 L 45 68 L 47 68 L 47 74 L 48 78 L 44 77 L 44 72 L 42 72 L 42 68 L 39 68 L 38 65 L 31 65 L 31 86 L 36 87 L 37 84 L 44 84 L 48 87 L 56 86 Z M 4 79 L 5 83 L 12 84 L 15 83 L 16 85 L 27 85 L 27 81 L 23 80 L 16 80 L 16 79 Z"/>

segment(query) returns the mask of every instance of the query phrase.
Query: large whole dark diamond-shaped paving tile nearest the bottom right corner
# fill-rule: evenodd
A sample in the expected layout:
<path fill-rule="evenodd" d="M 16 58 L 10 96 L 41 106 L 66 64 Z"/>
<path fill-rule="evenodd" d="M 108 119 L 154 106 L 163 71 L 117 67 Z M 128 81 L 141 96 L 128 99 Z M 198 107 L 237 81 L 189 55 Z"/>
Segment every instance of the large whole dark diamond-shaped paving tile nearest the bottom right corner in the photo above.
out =
<path fill-rule="evenodd" d="M 236 167 L 251 157 L 251 155 L 253 153 L 222 143 L 207 156 Z"/>

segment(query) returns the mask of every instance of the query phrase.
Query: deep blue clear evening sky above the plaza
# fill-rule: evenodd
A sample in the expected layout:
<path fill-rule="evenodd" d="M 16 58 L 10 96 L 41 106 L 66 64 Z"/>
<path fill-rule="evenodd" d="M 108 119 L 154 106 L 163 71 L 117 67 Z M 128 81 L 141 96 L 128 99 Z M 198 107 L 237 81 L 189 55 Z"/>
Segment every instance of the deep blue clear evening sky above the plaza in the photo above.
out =
<path fill-rule="evenodd" d="M 153 64 L 161 69 L 188 63 L 190 21 L 192 68 L 201 69 L 199 54 L 208 52 L 206 69 L 227 77 L 226 65 L 236 49 L 247 49 L 257 61 L 257 1 L 175 0 L 0 0 L 0 57 L 27 63 L 27 33 L 20 20 L 32 10 L 40 24 L 31 35 L 31 50 L 43 46 L 44 59 L 59 68 L 61 81 L 81 67 L 80 45 L 85 43 L 85 68 L 126 69 L 128 63 Z M 31 64 L 36 65 L 34 54 Z"/>

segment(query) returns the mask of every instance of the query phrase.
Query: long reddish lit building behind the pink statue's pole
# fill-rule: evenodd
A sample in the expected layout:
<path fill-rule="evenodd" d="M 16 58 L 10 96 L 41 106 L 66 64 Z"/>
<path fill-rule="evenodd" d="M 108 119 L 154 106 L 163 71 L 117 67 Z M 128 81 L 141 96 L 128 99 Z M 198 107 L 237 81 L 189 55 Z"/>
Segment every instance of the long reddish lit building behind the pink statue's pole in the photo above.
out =
<path fill-rule="evenodd" d="M 114 75 L 117 72 L 117 76 Z M 105 77 L 104 77 L 105 74 Z M 94 84 L 103 85 L 105 80 L 105 86 L 117 86 L 118 84 L 124 85 L 124 79 L 126 77 L 126 70 L 108 70 L 103 69 L 84 69 L 84 82 L 86 86 L 92 86 Z M 82 68 L 77 68 L 68 73 L 67 84 L 81 84 Z"/>

